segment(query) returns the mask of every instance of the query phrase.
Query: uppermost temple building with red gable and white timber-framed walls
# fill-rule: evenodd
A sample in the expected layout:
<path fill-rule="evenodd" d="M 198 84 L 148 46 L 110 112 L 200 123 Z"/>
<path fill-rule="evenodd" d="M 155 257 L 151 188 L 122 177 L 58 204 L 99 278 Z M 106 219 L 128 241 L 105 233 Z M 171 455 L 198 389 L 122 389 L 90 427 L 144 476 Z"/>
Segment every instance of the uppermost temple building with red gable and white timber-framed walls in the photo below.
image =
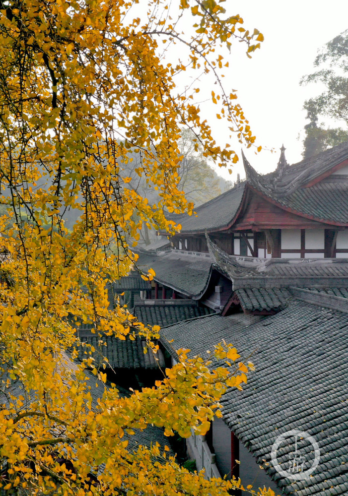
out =
<path fill-rule="evenodd" d="M 174 248 L 208 252 L 205 234 L 226 253 L 262 258 L 348 256 L 348 143 L 258 174 L 243 155 L 246 180 L 176 215 Z"/>

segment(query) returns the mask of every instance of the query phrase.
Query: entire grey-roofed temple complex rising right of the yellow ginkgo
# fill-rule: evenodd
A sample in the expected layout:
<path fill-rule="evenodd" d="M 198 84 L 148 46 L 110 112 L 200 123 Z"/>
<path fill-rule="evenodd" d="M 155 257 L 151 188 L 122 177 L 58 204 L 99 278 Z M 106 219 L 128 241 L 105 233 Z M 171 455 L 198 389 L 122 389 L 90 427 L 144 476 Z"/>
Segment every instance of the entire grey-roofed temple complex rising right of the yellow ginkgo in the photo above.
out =
<path fill-rule="evenodd" d="M 282 147 L 264 176 L 244 154 L 243 163 L 245 181 L 197 207 L 197 216 L 175 216 L 182 229 L 169 241 L 161 233 L 139 249 L 139 269 L 156 274 L 132 294 L 134 308 L 152 324 L 162 315 L 167 364 L 180 348 L 206 356 L 222 340 L 252 356 L 256 371 L 243 391 L 224 395 L 223 419 L 188 439 L 207 477 L 240 476 L 276 494 L 330 496 L 335 487 L 345 495 L 348 143 L 294 165 Z M 325 454 L 307 480 L 279 475 L 271 460 L 277 436 L 296 429 Z"/>

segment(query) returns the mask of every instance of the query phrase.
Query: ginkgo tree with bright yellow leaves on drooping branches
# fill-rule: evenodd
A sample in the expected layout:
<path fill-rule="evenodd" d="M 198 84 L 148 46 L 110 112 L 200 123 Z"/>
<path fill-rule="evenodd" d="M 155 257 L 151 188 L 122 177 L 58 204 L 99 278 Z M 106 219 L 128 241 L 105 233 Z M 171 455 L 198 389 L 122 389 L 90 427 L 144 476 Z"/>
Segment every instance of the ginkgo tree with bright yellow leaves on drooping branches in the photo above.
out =
<path fill-rule="evenodd" d="M 218 117 L 247 146 L 255 141 L 235 93 L 221 83 L 228 63 L 221 54 L 240 41 L 250 56 L 262 34 L 246 30 L 222 1 L 174 3 L 0 0 L 5 494 L 227 495 L 240 485 L 190 474 L 156 445 L 132 451 L 124 437 L 149 424 L 168 436 L 205 433 L 221 415 L 225 388 L 246 381 L 247 366 L 231 346 L 216 348 L 212 368 L 183 351 L 163 381 L 127 398 L 111 384 L 96 399 L 90 384 L 105 382 L 103 368 L 88 352 L 82 365 L 73 362 L 75 322 L 91 323 L 101 340 L 138 333 L 156 351 L 150 339 L 158 328 L 146 329 L 121 306 L 109 310 L 106 285 L 136 263 L 143 223 L 173 233 L 180 226 L 165 212 L 192 212 L 178 188 L 184 127 L 216 163 L 238 159 L 216 144 L 195 103 L 209 74 Z M 175 64 L 165 58 L 173 47 L 182 47 Z M 185 70 L 201 80 L 183 91 L 176 81 Z M 134 153 L 141 157 L 135 174 L 159 191 L 156 204 L 130 186 L 124 166 Z M 69 230 L 68 211 L 76 217 Z"/>

